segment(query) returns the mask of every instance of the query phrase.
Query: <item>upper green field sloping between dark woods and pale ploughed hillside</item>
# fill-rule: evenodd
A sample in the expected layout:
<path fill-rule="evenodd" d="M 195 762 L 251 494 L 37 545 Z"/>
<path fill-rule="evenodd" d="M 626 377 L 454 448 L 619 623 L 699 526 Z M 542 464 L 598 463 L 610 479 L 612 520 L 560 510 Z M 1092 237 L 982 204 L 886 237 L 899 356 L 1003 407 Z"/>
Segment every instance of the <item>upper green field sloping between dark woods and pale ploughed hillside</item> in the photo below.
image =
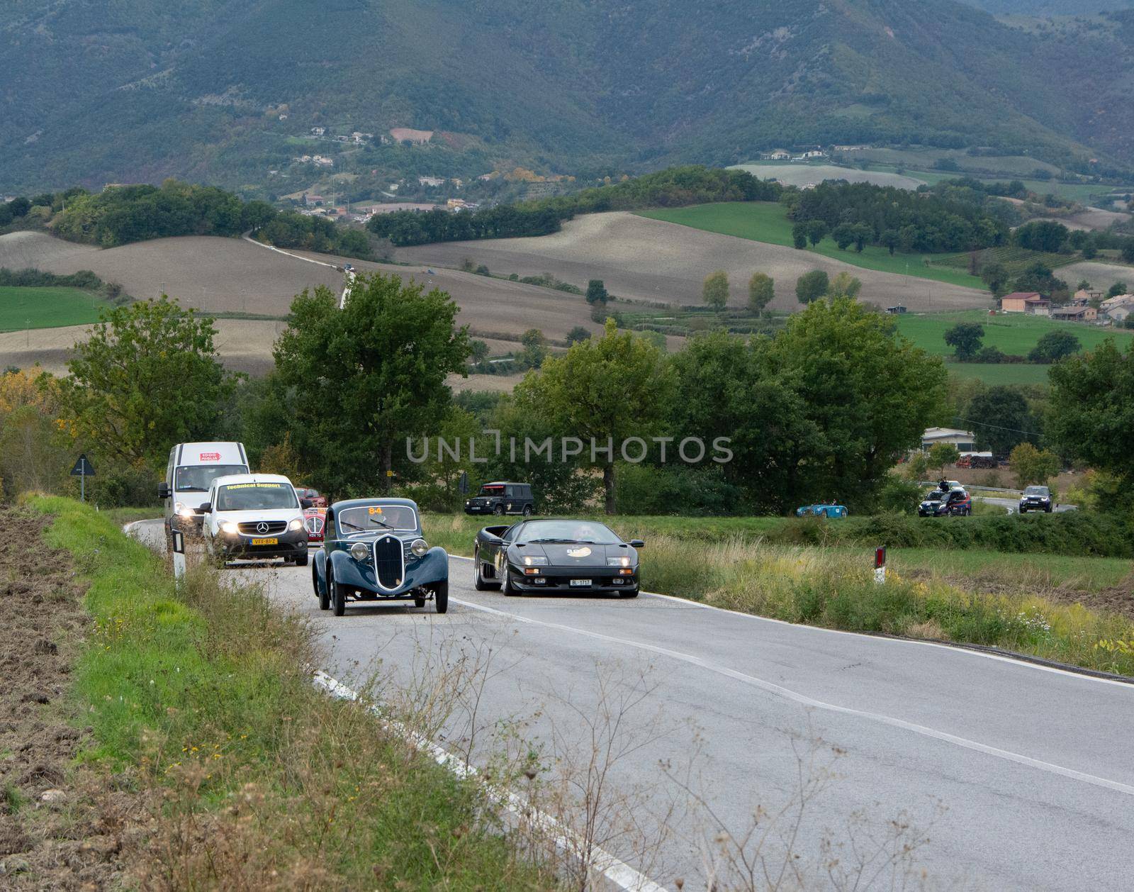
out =
<path fill-rule="evenodd" d="M 665 220 L 709 233 L 733 235 L 772 245 L 792 246 L 792 221 L 788 220 L 782 205 L 771 202 L 720 202 L 695 204 L 691 208 L 662 208 L 640 211 L 638 213 L 652 220 Z M 868 246 L 860 254 L 853 250 L 839 251 L 830 238 L 820 242 L 818 247 L 809 246 L 805 250 L 833 260 L 841 260 L 844 263 L 862 269 L 892 272 L 898 276 L 915 276 L 984 291 L 984 283 L 976 276 L 970 276 L 960 270 L 925 266 L 925 260 L 931 259 L 932 255 L 895 254 L 890 256 L 890 252 L 885 247 L 873 245 Z"/>

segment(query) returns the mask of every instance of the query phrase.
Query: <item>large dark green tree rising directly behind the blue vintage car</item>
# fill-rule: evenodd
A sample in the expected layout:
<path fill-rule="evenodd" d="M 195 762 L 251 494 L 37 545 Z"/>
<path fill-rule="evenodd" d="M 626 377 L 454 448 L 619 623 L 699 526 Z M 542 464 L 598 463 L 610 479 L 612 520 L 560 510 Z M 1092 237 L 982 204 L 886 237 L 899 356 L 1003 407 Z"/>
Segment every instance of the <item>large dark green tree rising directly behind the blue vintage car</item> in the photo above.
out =
<path fill-rule="evenodd" d="M 333 292 L 304 291 L 276 342 L 293 441 L 312 482 L 333 493 L 389 491 L 395 447 L 437 430 L 464 372 L 468 333 L 442 291 L 396 275 L 358 275 L 342 310 Z"/>

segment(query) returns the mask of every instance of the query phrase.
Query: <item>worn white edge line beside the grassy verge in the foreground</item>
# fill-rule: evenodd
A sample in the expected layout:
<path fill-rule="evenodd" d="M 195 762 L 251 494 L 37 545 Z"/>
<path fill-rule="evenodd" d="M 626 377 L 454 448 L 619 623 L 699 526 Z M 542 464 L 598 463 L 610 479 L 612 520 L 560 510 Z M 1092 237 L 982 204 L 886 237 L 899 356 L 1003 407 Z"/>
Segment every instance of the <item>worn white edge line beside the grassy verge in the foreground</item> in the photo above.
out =
<path fill-rule="evenodd" d="M 357 691 L 352 690 L 342 682 L 328 675 L 325 672 L 316 671 L 314 673 L 314 683 L 315 687 L 322 688 L 331 696 L 338 697 L 339 699 L 358 699 Z M 371 706 L 370 712 L 379 717 L 382 717 L 376 706 Z M 480 776 L 480 773 L 474 766 L 469 765 L 464 759 L 454 756 L 443 747 L 411 731 L 404 725 L 396 722 L 389 722 L 389 720 L 386 718 L 382 718 L 382 721 L 386 722 L 387 725 L 399 737 L 408 740 L 411 744 L 417 749 L 429 752 L 438 765 L 448 768 L 458 777 L 475 780 L 477 783 L 482 784 L 492 799 L 514 816 L 522 821 L 531 822 L 541 830 L 549 832 L 551 838 L 555 840 L 557 848 L 561 851 L 578 852 L 585 848 L 583 841 L 579 840 L 573 831 L 556 821 L 556 818 L 540 811 L 539 809 L 531 808 L 531 806 L 516 793 L 509 790 L 500 790 L 499 788 L 492 786 Z M 635 870 L 625 861 L 620 861 L 610 852 L 599 847 L 592 848 L 591 865 L 592 869 L 598 870 L 618 889 L 624 890 L 624 892 L 668 892 L 665 886 L 654 883 L 650 880 L 650 877 Z"/>

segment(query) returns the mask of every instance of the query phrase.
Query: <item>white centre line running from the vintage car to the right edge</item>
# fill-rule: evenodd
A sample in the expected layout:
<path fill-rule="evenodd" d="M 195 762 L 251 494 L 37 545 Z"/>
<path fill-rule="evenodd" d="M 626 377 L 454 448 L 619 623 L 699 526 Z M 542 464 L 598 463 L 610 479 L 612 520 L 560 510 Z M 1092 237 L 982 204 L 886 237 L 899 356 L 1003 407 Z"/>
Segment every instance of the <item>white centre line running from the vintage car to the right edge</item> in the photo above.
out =
<path fill-rule="evenodd" d="M 990 747 L 987 743 L 980 743 L 975 740 L 968 740 L 967 738 L 957 737 L 956 734 L 949 734 L 945 731 L 938 731 L 937 729 L 925 727 L 924 725 L 917 725 L 913 722 L 906 722 L 902 718 L 895 718 L 894 716 L 882 715 L 881 713 L 869 713 L 863 709 L 853 709 L 848 706 L 836 706 L 835 704 L 823 702 L 822 700 L 816 700 L 813 697 L 807 697 L 806 695 L 798 693 L 780 684 L 775 684 L 770 681 L 764 681 L 763 679 L 758 679 L 754 675 L 746 675 L 743 672 L 729 668 L 728 666 L 721 666 L 716 663 L 710 663 L 706 659 L 694 656 L 692 654 L 683 654 L 678 650 L 670 650 L 669 648 L 660 647 L 658 645 L 650 645 L 644 641 L 632 641 L 626 638 L 616 638 L 613 636 L 602 634 L 601 632 L 592 632 L 585 629 L 576 629 L 572 625 L 564 625 L 561 623 L 549 623 L 544 620 L 534 620 L 528 616 L 517 616 L 516 614 L 507 613 L 505 611 L 498 611 L 494 607 L 484 607 L 480 604 L 472 604 L 471 601 L 460 600 L 458 598 L 450 598 L 450 600 L 459 604 L 464 607 L 468 607 L 474 611 L 481 611 L 483 613 L 494 614 L 497 616 L 502 616 L 508 620 L 514 620 L 521 623 L 531 623 L 533 625 L 542 625 L 547 629 L 555 629 L 560 632 L 574 632 L 575 634 L 585 636 L 587 638 L 593 638 L 599 641 L 608 641 L 612 645 L 619 645 L 621 647 L 633 647 L 638 650 L 645 650 L 651 654 L 659 654 L 661 656 L 670 657 L 671 659 L 678 659 L 683 663 L 688 663 L 693 666 L 699 666 L 700 668 L 709 670 L 710 672 L 716 672 L 719 675 L 725 675 L 726 678 L 734 679 L 736 681 L 748 684 L 753 688 L 759 688 L 761 690 L 773 693 L 778 697 L 782 697 L 786 700 L 792 700 L 794 702 L 801 704 L 802 706 L 809 706 L 815 709 L 824 709 L 831 713 L 839 713 L 843 715 L 852 715 L 858 718 L 865 718 L 871 722 L 878 722 L 883 725 L 889 725 L 890 727 L 899 727 L 904 731 L 912 731 L 915 734 L 921 734 L 923 737 L 932 738 L 934 740 L 940 740 L 946 743 L 953 743 L 958 747 L 964 747 L 965 749 L 973 750 L 975 752 L 983 752 L 988 756 L 995 756 L 999 759 L 1005 759 L 1007 761 L 1014 761 L 1017 765 L 1024 765 L 1030 768 L 1038 768 L 1039 771 L 1048 772 L 1049 774 L 1058 774 L 1063 777 L 1069 777 L 1074 781 L 1082 781 L 1083 783 L 1093 784 L 1094 786 L 1101 786 L 1107 790 L 1114 790 L 1118 793 L 1125 793 L 1126 796 L 1134 796 L 1134 786 L 1129 784 L 1124 784 L 1118 781 L 1111 781 L 1106 777 L 1097 777 L 1093 774 L 1085 774 L 1084 772 L 1075 771 L 1074 768 L 1065 768 L 1061 765 L 1053 765 L 1049 761 L 1042 761 L 1041 759 L 1033 759 L 1031 756 L 1023 756 L 1018 752 L 1013 752 L 1006 749 L 999 749 L 997 747 Z M 883 639 L 885 640 L 885 639 Z"/>

